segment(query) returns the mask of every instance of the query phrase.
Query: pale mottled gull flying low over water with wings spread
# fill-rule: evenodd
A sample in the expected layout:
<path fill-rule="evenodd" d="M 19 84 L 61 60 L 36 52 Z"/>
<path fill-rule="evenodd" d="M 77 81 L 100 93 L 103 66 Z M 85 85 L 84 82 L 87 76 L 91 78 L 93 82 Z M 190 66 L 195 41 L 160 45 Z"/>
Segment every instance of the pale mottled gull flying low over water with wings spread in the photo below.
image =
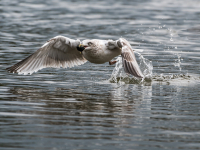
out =
<path fill-rule="evenodd" d="M 11 73 L 26 75 L 47 67 L 71 68 L 87 61 L 95 64 L 109 62 L 113 65 L 117 61 L 111 60 L 118 55 L 122 56 L 123 68 L 127 74 L 144 78 L 135 59 L 134 50 L 124 38 L 115 41 L 98 39 L 80 41 L 56 36 L 32 55 L 6 69 Z"/>

